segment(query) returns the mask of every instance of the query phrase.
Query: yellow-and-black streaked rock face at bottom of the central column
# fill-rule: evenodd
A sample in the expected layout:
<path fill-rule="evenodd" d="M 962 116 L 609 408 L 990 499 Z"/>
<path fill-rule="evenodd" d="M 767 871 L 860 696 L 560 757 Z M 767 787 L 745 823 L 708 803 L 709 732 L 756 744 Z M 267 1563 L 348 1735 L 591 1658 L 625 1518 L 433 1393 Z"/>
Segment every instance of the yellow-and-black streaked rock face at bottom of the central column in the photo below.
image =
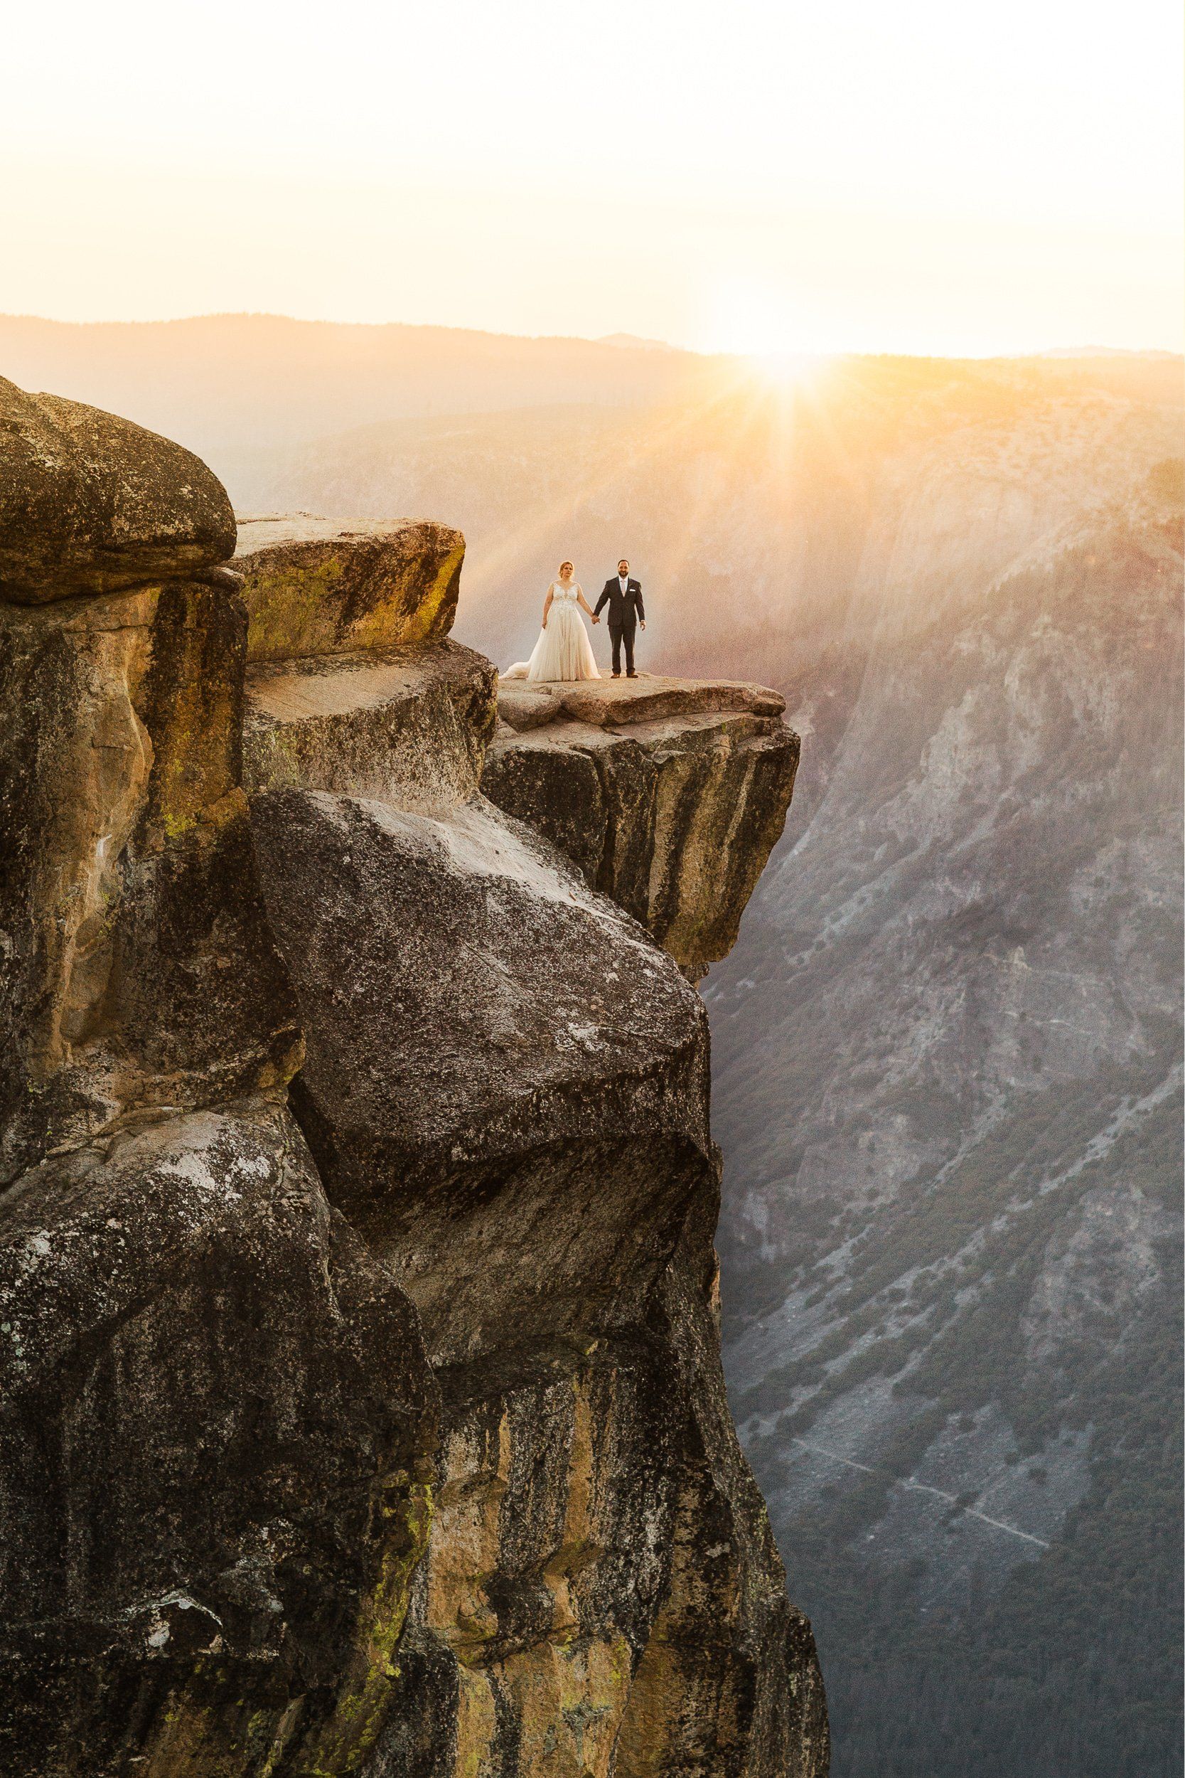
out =
<path fill-rule="evenodd" d="M 648 1341 L 446 1390 L 384 1771 L 826 1771 L 810 1630 L 752 1478 L 721 1478 L 714 1364 L 672 1362 L 689 1335 L 656 1305 Z"/>

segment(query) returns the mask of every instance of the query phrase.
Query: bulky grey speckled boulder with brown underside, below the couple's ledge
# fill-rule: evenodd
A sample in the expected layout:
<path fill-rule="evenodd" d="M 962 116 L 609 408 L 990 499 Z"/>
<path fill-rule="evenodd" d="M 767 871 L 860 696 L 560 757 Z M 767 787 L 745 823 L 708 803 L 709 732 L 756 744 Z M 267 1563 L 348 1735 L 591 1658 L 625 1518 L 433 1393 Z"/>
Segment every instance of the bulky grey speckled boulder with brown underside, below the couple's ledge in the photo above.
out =
<path fill-rule="evenodd" d="M 435 1362 L 636 1314 L 714 1200 L 707 1017 L 632 921 L 496 809 L 277 791 L 252 821 L 330 1197 Z"/>

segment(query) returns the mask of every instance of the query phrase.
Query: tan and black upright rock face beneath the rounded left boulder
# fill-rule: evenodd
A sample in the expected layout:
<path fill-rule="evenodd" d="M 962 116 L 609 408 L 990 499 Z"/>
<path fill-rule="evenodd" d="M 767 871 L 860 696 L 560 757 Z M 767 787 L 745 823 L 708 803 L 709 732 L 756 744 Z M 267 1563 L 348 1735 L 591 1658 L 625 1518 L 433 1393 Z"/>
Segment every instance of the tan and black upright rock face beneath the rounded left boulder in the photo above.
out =
<path fill-rule="evenodd" d="M 295 1067 L 238 775 L 243 629 L 201 581 L 0 605 L 9 1181 Z"/>

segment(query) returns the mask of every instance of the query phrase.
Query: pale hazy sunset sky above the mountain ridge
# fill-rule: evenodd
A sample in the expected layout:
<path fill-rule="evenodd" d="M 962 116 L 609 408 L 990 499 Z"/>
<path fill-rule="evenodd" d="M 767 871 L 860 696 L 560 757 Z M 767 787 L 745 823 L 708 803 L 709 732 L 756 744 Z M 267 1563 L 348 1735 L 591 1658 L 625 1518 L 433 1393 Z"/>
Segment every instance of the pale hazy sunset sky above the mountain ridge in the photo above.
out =
<path fill-rule="evenodd" d="M 1180 0 L 12 7 L 0 311 L 1181 345 Z"/>

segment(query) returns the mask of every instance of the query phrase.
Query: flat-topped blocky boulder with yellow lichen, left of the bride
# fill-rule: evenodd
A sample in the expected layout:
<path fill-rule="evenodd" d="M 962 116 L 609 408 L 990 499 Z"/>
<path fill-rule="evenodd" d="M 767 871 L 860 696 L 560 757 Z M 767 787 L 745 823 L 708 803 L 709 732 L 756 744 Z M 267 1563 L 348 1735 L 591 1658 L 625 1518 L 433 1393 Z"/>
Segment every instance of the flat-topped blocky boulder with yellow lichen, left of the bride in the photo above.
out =
<path fill-rule="evenodd" d="M 449 525 L 402 519 L 359 530 L 245 526 L 235 573 L 251 619 L 252 661 L 357 654 L 446 637 L 457 615 L 465 539 Z"/>

